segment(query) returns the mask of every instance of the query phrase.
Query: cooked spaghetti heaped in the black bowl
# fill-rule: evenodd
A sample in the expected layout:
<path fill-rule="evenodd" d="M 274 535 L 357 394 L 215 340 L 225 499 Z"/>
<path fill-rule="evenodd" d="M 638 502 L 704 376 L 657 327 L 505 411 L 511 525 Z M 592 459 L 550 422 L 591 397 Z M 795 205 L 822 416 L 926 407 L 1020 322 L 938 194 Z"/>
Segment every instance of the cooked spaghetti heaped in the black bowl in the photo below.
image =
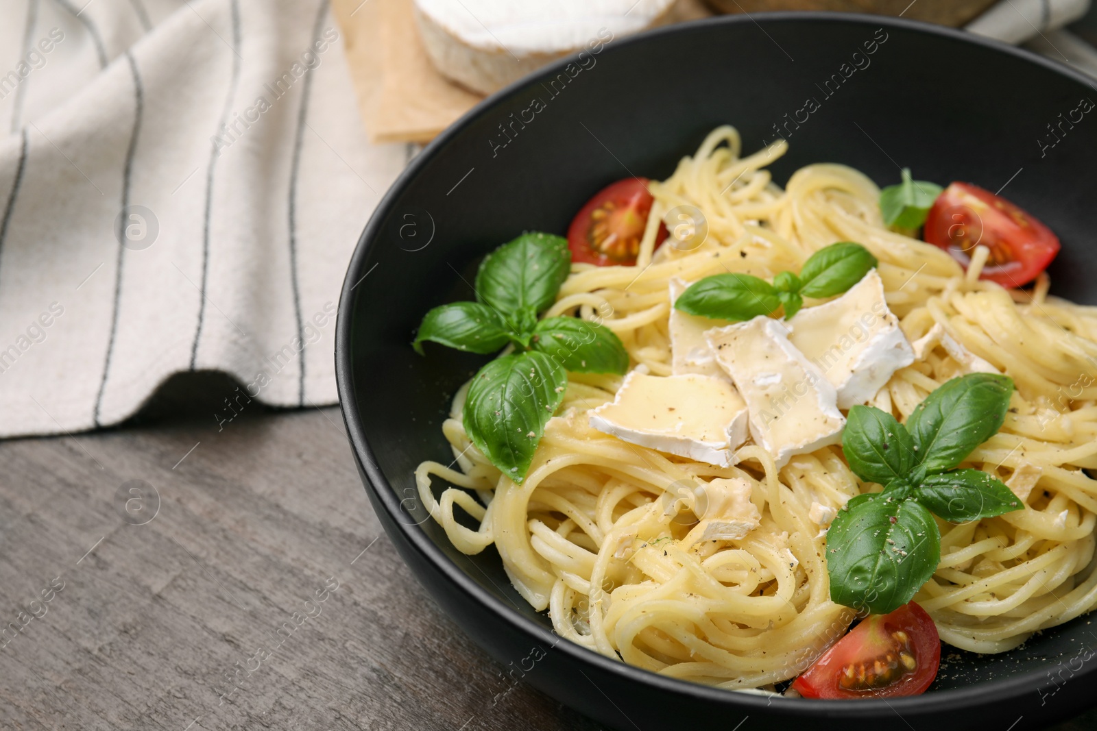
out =
<path fill-rule="evenodd" d="M 887 307 L 907 339 L 938 333 L 870 404 L 905 421 L 939 385 L 980 364 L 1016 384 L 1005 425 L 964 464 L 1006 482 L 1026 507 L 961 525 L 936 518 L 941 560 L 915 599 L 943 641 L 976 652 L 1009 650 L 1090 610 L 1097 482 L 1083 470 L 1097 467 L 1097 309 L 1049 297 L 1044 275 L 1031 293 L 980 281 L 985 248 L 965 273 L 941 249 L 889 230 L 879 189 L 850 168 L 808 165 L 781 190 L 766 165 L 785 149 L 778 140 L 740 157 L 738 133 L 714 130 L 669 179 L 651 184 L 655 203 L 636 265 L 573 264 L 544 317 L 600 321 L 620 336 L 634 368 L 667 376 L 671 277 L 771 278 L 800 271 L 835 241 L 860 242 L 879 260 Z M 694 247 L 672 233 L 656 249 L 663 217 L 678 206 L 703 213 L 708 236 Z M 667 222 L 674 231 L 675 221 Z M 796 675 L 853 619 L 852 609 L 830 601 L 826 533 L 812 506 L 838 509 L 879 486 L 861 483 L 838 446 L 778 469 L 768 452 L 748 444 L 735 466 L 716 467 L 591 429 L 587 412 L 612 400 L 621 382 L 568 375 L 564 402 L 521 484 L 467 438 L 466 385 L 442 427 L 460 469 L 422 462 L 421 500 L 461 551 L 494 544 L 514 587 L 548 610 L 562 637 L 664 675 L 730 688 Z M 436 499 L 432 478 L 456 487 Z M 698 487 L 715 478 L 751 487 L 760 523 L 740 539 L 701 539 L 699 503 L 721 494 Z M 455 506 L 478 529 L 462 525 Z"/>

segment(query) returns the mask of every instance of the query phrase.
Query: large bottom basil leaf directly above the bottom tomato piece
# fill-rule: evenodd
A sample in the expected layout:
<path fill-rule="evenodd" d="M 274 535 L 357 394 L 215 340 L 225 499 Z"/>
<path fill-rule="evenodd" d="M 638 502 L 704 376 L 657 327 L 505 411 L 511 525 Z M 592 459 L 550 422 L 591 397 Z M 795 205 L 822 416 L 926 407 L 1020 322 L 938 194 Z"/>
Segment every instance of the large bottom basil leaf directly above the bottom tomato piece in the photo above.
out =
<path fill-rule="evenodd" d="M 941 558 L 934 516 L 914 500 L 852 498 L 826 534 L 830 598 L 872 614 L 909 602 Z"/>

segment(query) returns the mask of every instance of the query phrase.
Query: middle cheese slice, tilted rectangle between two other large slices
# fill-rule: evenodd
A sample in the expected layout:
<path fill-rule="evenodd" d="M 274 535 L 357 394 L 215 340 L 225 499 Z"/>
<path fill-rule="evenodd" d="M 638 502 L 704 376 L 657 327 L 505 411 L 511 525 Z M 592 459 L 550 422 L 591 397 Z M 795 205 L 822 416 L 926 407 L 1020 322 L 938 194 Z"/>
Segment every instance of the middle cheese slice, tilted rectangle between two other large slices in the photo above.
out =
<path fill-rule="evenodd" d="M 841 439 L 846 419 L 838 393 L 803 353 L 789 330 L 765 316 L 705 333 L 750 413 L 750 436 L 783 467 L 793 455 Z"/>

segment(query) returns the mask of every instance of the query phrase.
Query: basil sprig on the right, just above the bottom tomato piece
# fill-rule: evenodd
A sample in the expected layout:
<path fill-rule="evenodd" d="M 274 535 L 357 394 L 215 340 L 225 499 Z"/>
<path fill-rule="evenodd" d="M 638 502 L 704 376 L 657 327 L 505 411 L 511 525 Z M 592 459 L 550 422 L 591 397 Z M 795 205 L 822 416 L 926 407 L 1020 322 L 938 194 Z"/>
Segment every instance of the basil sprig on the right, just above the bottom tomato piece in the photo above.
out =
<path fill-rule="evenodd" d="M 1002 427 L 1013 390 L 1013 380 L 997 374 L 953 378 L 918 404 L 906 426 L 873 407 L 850 409 L 846 461 L 884 490 L 851 499 L 830 524 L 834 602 L 872 614 L 897 609 L 940 562 L 932 514 L 959 523 L 1025 507 L 986 472 L 952 469 Z"/>

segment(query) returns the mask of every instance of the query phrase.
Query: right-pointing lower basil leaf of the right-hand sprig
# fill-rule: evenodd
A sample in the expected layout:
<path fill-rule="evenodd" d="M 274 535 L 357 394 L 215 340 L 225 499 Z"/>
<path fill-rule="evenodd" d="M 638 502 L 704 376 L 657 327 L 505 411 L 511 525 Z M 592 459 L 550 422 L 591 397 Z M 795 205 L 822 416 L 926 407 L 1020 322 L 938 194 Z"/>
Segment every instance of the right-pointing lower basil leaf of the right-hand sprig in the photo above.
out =
<path fill-rule="evenodd" d="M 921 481 L 914 496 L 936 515 L 952 523 L 1025 509 L 1025 503 L 1005 483 L 977 469 L 930 475 Z"/>

